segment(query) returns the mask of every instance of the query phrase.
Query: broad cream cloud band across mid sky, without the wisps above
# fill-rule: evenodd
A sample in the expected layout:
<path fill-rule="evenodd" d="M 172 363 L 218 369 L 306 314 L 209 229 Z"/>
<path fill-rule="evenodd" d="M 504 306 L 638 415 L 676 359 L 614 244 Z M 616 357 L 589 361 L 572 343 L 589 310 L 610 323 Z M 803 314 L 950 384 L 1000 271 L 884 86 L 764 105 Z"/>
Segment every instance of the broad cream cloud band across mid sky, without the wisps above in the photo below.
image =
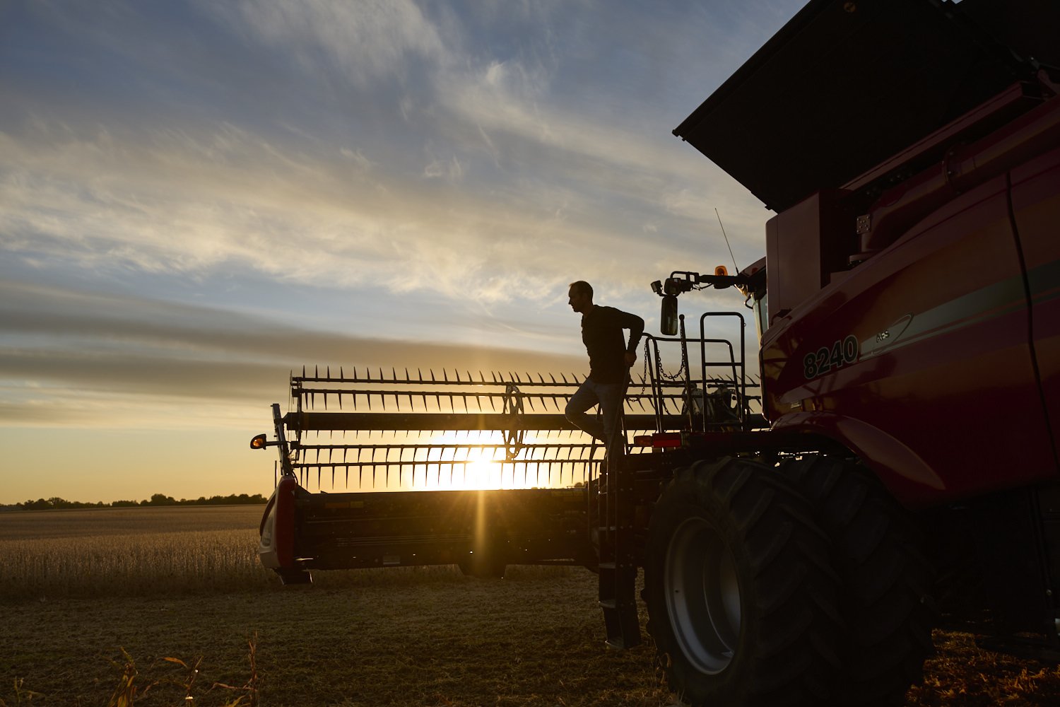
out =
<path fill-rule="evenodd" d="M 137 135 L 41 121 L 19 139 L 0 135 L 0 247 L 101 273 L 235 266 L 304 283 L 536 300 L 567 277 L 558 255 L 599 273 L 599 244 L 639 243 L 621 211 L 651 197 L 642 180 L 612 180 L 605 190 L 628 206 L 608 213 L 599 187 L 578 190 L 558 173 L 454 189 L 475 174 L 455 154 L 429 162 L 418 184 L 347 149 L 329 160 L 232 125 Z M 665 208 L 641 217 L 657 222 Z M 623 260 L 620 277 L 638 259 Z"/>

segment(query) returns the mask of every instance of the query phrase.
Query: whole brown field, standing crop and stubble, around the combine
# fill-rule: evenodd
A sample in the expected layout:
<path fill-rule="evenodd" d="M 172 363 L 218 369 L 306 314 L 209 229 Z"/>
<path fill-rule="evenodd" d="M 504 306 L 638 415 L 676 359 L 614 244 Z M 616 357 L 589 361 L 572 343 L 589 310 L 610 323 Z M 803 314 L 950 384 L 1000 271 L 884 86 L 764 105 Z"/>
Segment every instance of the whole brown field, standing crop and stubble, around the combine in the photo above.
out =
<path fill-rule="evenodd" d="M 143 512 L 159 513 L 160 527 L 172 528 L 183 527 L 174 515 L 192 510 L 200 509 Z M 257 525 L 260 509 L 238 513 L 245 517 L 237 523 Z M 0 518 L 0 536 L 7 538 L 4 523 Z M 255 537 L 245 525 L 202 532 L 157 532 L 156 526 L 154 533 L 148 526 L 139 534 L 64 538 L 49 531 L 43 538 L 23 533 L 0 542 L 0 705 L 31 696 L 34 705 L 107 705 L 123 678 L 138 688 L 135 704 L 143 706 L 183 704 L 189 694 L 189 704 L 226 705 L 242 696 L 246 705 L 254 694 L 261 705 L 299 707 L 675 701 L 655 682 L 650 641 L 628 652 L 603 646 L 596 577 L 583 569 L 513 568 L 500 581 L 467 579 L 453 567 L 319 572 L 312 587 L 282 588 L 252 562 L 258 576 L 243 564 L 247 555 L 252 560 Z M 181 547 L 176 536 L 190 555 L 217 552 L 201 566 L 226 582 L 246 572 L 249 586 L 173 576 L 193 566 L 161 561 Z M 26 594 L 30 585 L 10 570 L 12 548 L 74 556 L 78 545 L 55 543 L 77 537 L 132 558 L 127 570 L 143 579 L 123 594 L 121 583 L 89 571 L 87 560 L 41 561 L 53 576 L 82 579 L 49 585 L 65 587 L 57 594 Z M 217 537 L 227 540 L 208 542 Z M 166 549 L 145 554 L 138 544 Z M 241 544 L 237 552 L 215 549 Z M 20 596 L 10 590 L 13 584 L 22 587 L 14 593 Z M 1060 704 L 1054 666 L 982 651 L 968 634 L 937 632 L 935 638 L 939 654 L 907 705 Z M 233 689 L 214 687 L 222 684 Z"/>

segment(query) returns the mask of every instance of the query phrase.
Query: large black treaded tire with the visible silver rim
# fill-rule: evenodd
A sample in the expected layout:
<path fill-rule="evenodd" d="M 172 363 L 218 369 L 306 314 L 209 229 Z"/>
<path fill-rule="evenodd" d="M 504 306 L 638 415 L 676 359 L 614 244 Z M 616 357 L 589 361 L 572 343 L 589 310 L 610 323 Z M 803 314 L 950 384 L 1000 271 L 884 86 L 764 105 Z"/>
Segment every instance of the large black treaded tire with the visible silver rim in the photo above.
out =
<path fill-rule="evenodd" d="M 681 470 L 652 512 L 644 600 L 670 689 L 699 705 L 820 705 L 840 657 L 837 577 L 807 501 L 726 458 Z"/>

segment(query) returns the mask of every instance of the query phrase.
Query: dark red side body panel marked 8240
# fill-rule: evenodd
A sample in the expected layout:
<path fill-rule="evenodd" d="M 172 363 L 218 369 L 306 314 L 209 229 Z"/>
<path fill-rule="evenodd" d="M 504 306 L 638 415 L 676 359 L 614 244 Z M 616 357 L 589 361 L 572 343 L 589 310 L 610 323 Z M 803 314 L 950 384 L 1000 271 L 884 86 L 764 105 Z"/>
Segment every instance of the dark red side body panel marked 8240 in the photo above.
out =
<path fill-rule="evenodd" d="M 1060 158 L 1040 155 L 1057 144 L 1060 100 L 1048 103 L 885 194 L 869 215 L 891 232 L 869 234 L 882 249 L 853 269 L 771 250 L 766 417 L 843 443 L 907 506 L 1057 476 Z M 805 214 L 824 228 L 803 202 L 771 222 L 771 245 L 799 241 Z M 808 299 L 785 277 L 800 269 L 823 282 Z"/>

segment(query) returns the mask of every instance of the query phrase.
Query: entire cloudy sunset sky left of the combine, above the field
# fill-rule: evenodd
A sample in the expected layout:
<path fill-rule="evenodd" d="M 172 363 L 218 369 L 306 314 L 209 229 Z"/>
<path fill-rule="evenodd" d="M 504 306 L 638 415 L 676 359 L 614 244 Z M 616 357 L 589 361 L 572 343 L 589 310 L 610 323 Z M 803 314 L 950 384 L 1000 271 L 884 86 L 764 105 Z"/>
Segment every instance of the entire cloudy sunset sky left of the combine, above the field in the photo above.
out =
<path fill-rule="evenodd" d="M 801 4 L 0 1 L 0 503 L 268 495 L 303 365 L 584 374 L 573 280 L 657 334 L 773 215 L 672 130 Z"/>

